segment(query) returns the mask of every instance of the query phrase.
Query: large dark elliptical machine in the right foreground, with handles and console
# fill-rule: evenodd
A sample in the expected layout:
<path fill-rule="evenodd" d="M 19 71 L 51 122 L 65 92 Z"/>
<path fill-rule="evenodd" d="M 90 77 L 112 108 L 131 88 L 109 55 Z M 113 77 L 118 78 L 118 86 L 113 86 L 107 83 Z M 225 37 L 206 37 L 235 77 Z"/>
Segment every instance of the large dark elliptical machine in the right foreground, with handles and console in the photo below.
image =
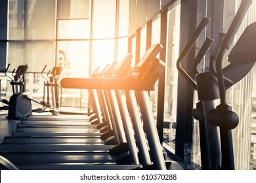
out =
<path fill-rule="evenodd" d="M 209 72 L 200 73 L 196 66 L 200 61 L 194 61 L 195 80 L 190 77 L 181 67 L 182 59 L 188 54 L 200 33 L 207 25 L 209 20 L 204 18 L 202 24 L 198 26 L 192 34 L 177 61 L 179 72 L 186 78 L 191 86 L 198 91 L 196 108 L 193 116 L 200 122 L 200 145 L 202 154 L 202 169 L 234 169 L 234 155 L 232 147 L 232 133 L 239 122 L 238 115 L 226 104 L 225 93 L 230 86 L 244 78 L 253 67 L 256 56 L 255 37 L 256 24 L 249 25 L 241 35 L 238 42 L 230 52 L 228 61 L 230 65 L 222 68 L 223 56 L 229 48 L 238 27 L 240 26 L 244 14 L 251 5 L 251 1 L 242 1 L 232 24 L 226 35 L 221 33 L 217 45 L 210 58 Z M 245 46 L 250 42 L 250 46 Z M 210 44 L 203 46 L 206 49 Z M 203 57 L 200 56 L 201 58 Z M 201 60 L 201 59 L 198 59 Z M 221 104 L 215 107 L 213 101 L 221 99 Z M 217 128 L 219 127 L 219 128 Z"/>

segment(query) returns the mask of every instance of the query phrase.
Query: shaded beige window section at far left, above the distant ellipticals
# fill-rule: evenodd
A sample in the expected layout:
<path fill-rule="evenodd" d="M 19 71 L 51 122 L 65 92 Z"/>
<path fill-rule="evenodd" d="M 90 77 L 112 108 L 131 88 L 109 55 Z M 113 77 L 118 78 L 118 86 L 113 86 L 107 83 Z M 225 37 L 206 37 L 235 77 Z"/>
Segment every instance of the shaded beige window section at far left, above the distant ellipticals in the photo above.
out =
<path fill-rule="evenodd" d="M 45 64 L 53 66 L 55 5 L 52 0 L 9 1 L 7 63 L 11 71 L 21 64 L 28 64 L 30 72 L 40 72 Z"/>

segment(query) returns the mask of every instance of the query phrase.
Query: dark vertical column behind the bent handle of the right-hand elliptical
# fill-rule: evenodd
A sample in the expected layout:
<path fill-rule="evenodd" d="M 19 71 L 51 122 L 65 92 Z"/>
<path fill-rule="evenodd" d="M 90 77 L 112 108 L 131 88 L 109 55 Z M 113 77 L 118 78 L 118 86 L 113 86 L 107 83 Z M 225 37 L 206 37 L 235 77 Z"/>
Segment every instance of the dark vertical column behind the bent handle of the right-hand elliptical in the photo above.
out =
<path fill-rule="evenodd" d="M 181 1 L 181 43 L 182 49 L 191 33 L 196 29 L 197 3 L 191 0 Z M 192 48 L 194 49 L 194 48 Z M 194 60 L 194 53 L 188 54 L 186 60 Z M 189 61 L 183 61 L 182 67 L 189 68 Z M 175 137 L 175 154 L 184 159 L 184 146 L 192 142 L 192 108 L 194 90 L 179 74 L 177 95 L 177 129 Z M 189 146 L 187 146 L 190 148 Z M 191 157 L 186 157 L 190 159 Z"/>

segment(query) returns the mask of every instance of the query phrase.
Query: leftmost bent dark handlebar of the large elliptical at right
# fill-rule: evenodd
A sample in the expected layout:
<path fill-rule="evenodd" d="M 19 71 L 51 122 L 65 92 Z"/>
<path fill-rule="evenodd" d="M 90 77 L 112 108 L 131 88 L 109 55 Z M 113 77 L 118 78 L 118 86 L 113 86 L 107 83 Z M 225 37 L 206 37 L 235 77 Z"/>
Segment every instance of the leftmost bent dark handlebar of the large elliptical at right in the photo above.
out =
<path fill-rule="evenodd" d="M 196 43 L 196 40 L 198 39 L 198 37 L 200 36 L 200 34 L 202 33 L 202 31 L 206 27 L 206 25 L 209 24 L 209 22 L 210 22 L 209 18 L 203 18 L 201 20 L 200 24 L 198 25 L 198 27 L 196 28 L 194 33 L 192 33 L 190 39 L 188 39 L 188 42 L 186 42 L 184 48 L 181 50 L 179 58 L 177 59 L 177 69 L 178 69 L 179 73 L 181 73 L 181 75 L 184 76 L 184 78 L 186 78 L 186 80 L 191 84 L 191 86 L 194 89 L 197 89 L 196 82 L 194 82 L 194 80 L 188 75 L 188 73 L 186 73 L 186 71 L 184 71 L 184 69 L 182 69 L 181 61 L 184 57 L 186 57 L 188 52 L 190 52 L 191 48 Z"/>

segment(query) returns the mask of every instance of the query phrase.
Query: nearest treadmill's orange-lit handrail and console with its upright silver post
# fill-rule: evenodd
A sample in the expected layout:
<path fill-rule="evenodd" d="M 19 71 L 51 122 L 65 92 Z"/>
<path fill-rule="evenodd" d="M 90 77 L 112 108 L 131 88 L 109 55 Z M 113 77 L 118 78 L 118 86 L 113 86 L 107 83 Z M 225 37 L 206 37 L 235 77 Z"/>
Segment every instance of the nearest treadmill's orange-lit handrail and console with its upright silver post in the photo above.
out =
<path fill-rule="evenodd" d="M 146 53 L 146 54 L 150 54 Z M 157 58 L 142 59 L 135 73 L 131 78 L 63 78 L 61 86 L 63 88 L 87 88 L 87 89 L 103 89 L 103 90 L 135 90 L 140 110 L 150 154 L 153 164 L 145 165 L 148 169 L 171 169 L 173 162 L 165 161 L 161 144 L 154 124 L 154 116 L 150 108 L 148 90 L 152 90 L 156 80 L 164 70 L 164 63 Z M 136 136 L 136 134 L 135 134 Z M 151 163 L 151 161 L 150 161 Z M 167 166 L 167 167 L 166 167 Z"/>

